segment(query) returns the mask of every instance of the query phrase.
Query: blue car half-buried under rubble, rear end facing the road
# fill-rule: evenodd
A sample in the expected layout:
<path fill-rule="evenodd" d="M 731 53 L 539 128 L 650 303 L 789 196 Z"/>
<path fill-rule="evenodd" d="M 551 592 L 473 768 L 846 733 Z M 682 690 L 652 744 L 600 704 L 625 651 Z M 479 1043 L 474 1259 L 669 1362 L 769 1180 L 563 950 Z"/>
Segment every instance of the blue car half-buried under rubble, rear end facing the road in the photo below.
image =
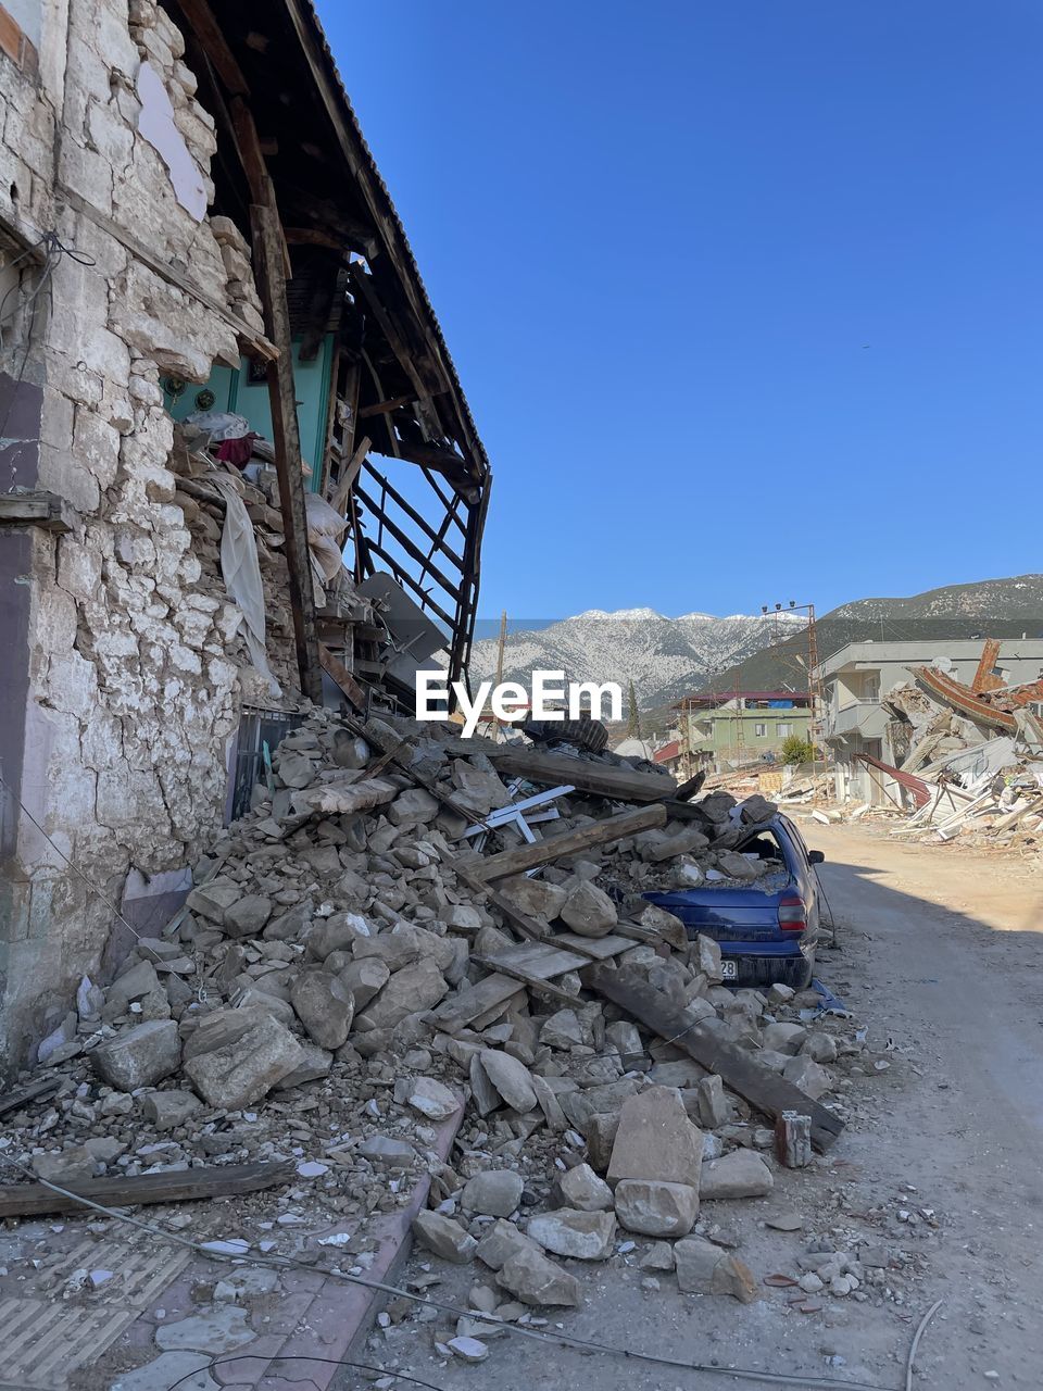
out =
<path fill-rule="evenodd" d="M 794 823 L 776 815 L 750 828 L 736 847 L 757 854 L 769 868 L 751 885 L 733 881 L 715 887 L 642 897 L 684 924 L 690 938 L 702 932 L 720 943 L 727 985 L 790 985 L 804 989 L 815 964 L 819 928 L 819 883 L 815 865 L 826 858 L 808 850 Z"/>

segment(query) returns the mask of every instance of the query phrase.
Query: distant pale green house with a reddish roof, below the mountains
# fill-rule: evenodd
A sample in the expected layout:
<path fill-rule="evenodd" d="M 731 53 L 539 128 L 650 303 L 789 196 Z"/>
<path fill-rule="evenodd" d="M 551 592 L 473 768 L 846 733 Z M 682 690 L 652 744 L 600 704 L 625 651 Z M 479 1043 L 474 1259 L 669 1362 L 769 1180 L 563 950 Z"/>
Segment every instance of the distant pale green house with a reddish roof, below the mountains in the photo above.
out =
<path fill-rule="evenodd" d="M 744 764 L 775 762 L 791 736 L 807 737 L 807 691 L 729 691 L 686 696 L 677 714 L 679 776 L 701 768 L 726 772 Z M 673 732 L 672 732 L 673 733 Z"/>

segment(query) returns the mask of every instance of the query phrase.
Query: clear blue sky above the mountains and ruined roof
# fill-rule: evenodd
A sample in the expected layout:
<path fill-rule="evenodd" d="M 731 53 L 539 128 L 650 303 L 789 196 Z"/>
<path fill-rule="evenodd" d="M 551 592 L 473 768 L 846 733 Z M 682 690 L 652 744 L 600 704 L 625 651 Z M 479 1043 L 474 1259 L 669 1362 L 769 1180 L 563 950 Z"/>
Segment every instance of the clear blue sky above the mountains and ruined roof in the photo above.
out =
<path fill-rule="evenodd" d="M 320 0 L 495 485 L 484 615 L 1043 569 L 1037 0 Z"/>

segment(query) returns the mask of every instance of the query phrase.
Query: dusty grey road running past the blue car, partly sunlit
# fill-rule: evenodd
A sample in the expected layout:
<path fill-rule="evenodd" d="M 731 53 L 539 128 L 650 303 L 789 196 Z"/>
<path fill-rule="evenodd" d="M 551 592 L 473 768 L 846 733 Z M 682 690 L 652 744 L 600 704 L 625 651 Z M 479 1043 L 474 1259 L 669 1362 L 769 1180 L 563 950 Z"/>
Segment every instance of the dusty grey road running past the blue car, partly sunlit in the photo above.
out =
<path fill-rule="evenodd" d="M 811 822 L 807 836 L 826 851 L 823 882 L 839 922 L 840 950 L 822 951 L 818 974 L 868 1024 L 875 1046 L 893 1040 L 891 1066 L 855 1079 L 851 1124 L 827 1159 L 784 1171 L 772 1198 L 716 1203 L 713 1216 L 737 1232 L 758 1278 L 794 1273 L 794 1257 L 814 1237 L 844 1249 L 876 1241 L 900 1255 L 893 1294 L 901 1302 L 827 1298 L 820 1313 L 804 1314 L 789 1308 L 786 1289 L 765 1288 L 758 1303 L 741 1306 L 680 1295 L 672 1276 L 647 1292 L 640 1244 L 606 1264 L 570 1263 L 587 1303 L 566 1313 L 562 1327 L 686 1363 L 797 1374 L 798 1385 L 829 1376 L 898 1391 L 915 1326 L 944 1299 L 914 1385 L 1039 1387 L 1043 871 L 955 846 L 898 844 L 855 826 Z M 763 1225 L 782 1207 L 804 1217 L 802 1231 Z M 923 1210 L 933 1216 L 923 1219 Z M 912 1213 L 915 1225 L 900 1213 Z M 424 1269 L 417 1255 L 409 1274 Z M 438 1262 L 427 1269 L 444 1277 L 430 1294 L 462 1303 L 481 1273 Z M 442 1365 L 431 1346 L 435 1328 L 442 1338 L 453 1331 L 445 1319 L 409 1319 L 374 1338 L 369 1360 L 445 1391 L 492 1383 L 503 1391 L 738 1384 L 516 1337 L 492 1342 L 481 1366 Z M 366 1384 L 359 1373 L 339 1383 L 342 1391 Z"/>

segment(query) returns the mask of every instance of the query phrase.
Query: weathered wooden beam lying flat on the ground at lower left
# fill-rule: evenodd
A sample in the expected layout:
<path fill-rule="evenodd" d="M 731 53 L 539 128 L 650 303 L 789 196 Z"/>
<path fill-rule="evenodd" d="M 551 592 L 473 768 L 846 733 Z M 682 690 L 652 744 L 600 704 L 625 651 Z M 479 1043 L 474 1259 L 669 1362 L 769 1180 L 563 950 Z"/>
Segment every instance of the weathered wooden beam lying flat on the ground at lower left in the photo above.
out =
<path fill-rule="evenodd" d="M 292 1163 L 221 1164 L 207 1168 L 167 1170 L 163 1174 L 136 1174 L 131 1178 L 78 1178 L 61 1188 L 106 1207 L 134 1207 L 145 1203 L 191 1203 L 199 1198 L 235 1198 L 275 1188 L 296 1180 Z M 46 1184 L 10 1184 L 0 1187 L 0 1220 L 32 1217 L 39 1213 L 79 1212 L 75 1198 L 56 1193 Z"/>

